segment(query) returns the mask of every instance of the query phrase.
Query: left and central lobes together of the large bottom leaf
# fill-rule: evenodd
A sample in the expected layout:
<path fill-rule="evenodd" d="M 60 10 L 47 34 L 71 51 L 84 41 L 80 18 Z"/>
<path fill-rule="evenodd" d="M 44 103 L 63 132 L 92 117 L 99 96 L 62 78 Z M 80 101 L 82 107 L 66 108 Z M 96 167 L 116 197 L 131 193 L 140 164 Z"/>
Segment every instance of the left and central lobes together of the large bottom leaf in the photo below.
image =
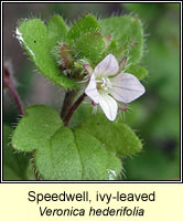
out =
<path fill-rule="evenodd" d="M 34 150 L 34 166 L 46 180 L 108 180 L 121 171 L 120 159 L 92 135 L 63 126 L 51 107 L 25 109 L 12 137 L 19 151 Z"/>

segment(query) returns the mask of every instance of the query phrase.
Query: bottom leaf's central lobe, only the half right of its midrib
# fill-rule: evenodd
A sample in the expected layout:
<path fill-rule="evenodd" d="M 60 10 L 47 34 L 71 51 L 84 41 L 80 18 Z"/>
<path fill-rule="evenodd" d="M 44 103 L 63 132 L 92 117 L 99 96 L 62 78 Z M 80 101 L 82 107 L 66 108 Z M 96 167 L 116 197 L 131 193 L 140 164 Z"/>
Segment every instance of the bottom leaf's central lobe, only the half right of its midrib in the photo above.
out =
<path fill-rule="evenodd" d="M 115 173 L 114 179 L 119 176 L 121 164 L 116 156 L 86 131 L 75 129 L 74 135 L 83 166 L 83 180 L 108 180 L 111 179 L 111 171 Z"/>

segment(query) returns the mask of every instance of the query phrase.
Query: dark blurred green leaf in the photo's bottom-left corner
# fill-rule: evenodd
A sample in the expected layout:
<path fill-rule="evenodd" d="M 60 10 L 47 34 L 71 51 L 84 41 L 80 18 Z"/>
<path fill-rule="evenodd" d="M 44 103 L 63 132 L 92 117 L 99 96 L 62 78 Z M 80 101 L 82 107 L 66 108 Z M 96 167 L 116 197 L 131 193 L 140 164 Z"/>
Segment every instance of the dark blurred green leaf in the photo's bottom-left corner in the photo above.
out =
<path fill-rule="evenodd" d="M 12 128 L 3 125 L 3 179 L 24 180 L 26 179 L 26 168 L 29 156 L 15 152 L 10 146 L 10 135 Z"/>

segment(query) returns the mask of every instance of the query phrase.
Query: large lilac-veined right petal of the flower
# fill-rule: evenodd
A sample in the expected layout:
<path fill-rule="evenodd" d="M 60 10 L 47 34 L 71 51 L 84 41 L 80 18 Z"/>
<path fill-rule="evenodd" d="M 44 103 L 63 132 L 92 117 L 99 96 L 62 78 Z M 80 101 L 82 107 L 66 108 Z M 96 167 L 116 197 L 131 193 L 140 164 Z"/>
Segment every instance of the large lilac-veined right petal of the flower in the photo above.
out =
<path fill-rule="evenodd" d="M 121 73 L 110 78 L 110 82 L 112 86 L 110 94 L 115 99 L 122 103 L 130 103 L 146 92 L 140 81 L 129 73 Z"/>

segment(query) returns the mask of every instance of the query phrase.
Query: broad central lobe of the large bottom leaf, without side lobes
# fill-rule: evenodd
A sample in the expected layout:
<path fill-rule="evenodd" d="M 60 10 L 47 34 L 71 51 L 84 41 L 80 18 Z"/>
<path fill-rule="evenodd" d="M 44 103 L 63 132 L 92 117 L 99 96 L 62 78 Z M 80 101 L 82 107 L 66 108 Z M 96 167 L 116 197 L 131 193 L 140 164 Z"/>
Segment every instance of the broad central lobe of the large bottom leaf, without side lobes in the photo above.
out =
<path fill-rule="evenodd" d="M 49 180 L 108 180 L 108 170 L 114 171 L 112 179 L 121 171 L 120 160 L 95 137 L 78 129 L 73 134 L 66 127 L 52 136 L 44 152 L 43 148 L 35 152 L 34 164 Z"/>

